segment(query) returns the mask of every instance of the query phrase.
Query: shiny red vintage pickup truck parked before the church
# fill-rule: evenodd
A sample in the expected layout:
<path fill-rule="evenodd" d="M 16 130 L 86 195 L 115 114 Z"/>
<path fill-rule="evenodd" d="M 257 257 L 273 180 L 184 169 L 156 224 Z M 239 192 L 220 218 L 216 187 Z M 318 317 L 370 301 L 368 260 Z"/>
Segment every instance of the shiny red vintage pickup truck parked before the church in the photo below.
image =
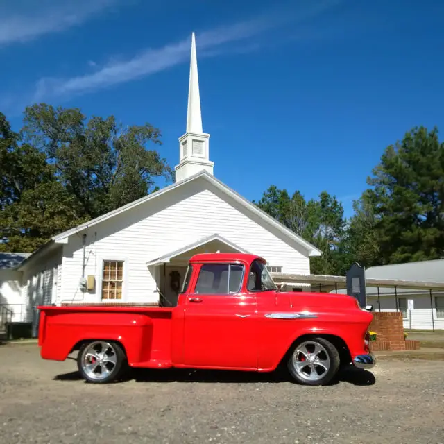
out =
<path fill-rule="evenodd" d="M 372 314 L 347 295 L 280 291 L 256 255 L 191 257 L 176 307 L 39 307 L 43 359 L 78 350 L 89 382 L 129 367 L 271 372 L 327 384 L 342 366 L 372 368 Z"/>

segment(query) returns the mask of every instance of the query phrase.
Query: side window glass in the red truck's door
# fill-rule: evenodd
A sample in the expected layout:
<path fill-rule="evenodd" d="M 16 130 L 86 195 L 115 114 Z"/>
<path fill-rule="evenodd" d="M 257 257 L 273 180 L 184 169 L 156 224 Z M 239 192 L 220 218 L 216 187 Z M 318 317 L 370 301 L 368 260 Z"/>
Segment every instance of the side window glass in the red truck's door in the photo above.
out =
<path fill-rule="evenodd" d="M 195 293 L 229 294 L 241 289 L 244 266 L 239 264 L 203 264 Z"/>

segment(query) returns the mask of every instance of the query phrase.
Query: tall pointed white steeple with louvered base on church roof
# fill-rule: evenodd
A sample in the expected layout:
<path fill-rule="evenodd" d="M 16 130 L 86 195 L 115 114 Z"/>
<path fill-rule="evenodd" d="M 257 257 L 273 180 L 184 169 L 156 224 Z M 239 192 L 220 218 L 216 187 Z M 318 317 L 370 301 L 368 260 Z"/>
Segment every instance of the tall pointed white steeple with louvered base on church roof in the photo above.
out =
<path fill-rule="evenodd" d="M 180 162 L 176 165 L 176 182 L 205 170 L 213 173 L 214 162 L 210 162 L 210 135 L 203 133 L 200 112 L 199 79 L 196 56 L 196 37 L 191 34 L 191 60 L 189 65 L 187 132 L 179 138 Z"/>

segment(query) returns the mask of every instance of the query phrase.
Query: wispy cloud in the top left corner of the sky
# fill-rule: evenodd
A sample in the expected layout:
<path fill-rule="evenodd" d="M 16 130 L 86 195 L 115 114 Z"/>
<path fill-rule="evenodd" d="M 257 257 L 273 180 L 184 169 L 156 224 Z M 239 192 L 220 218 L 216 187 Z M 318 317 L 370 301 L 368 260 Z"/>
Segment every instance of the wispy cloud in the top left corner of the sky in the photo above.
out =
<path fill-rule="evenodd" d="M 19 14 L 0 6 L 0 46 L 26 42 L 42 35 L 59 33 L 94 17 L 118 0 L 63 0 L 27 2 Z M 17 2 L 15 2 L 17 3 Z M 19 3 L 19 2 L 18 2 Z"/>

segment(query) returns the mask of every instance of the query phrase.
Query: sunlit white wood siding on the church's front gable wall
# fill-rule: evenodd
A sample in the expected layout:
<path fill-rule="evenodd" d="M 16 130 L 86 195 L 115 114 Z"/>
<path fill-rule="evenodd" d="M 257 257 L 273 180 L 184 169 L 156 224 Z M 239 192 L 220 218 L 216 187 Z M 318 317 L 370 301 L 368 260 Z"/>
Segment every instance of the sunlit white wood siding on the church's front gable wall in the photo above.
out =
<path fill-rule="evenodd" d="M 229 200 L 229 201 L 228 201 Z M 85 230 L 85 232 L 87 232 Z M 307 253 L 205 180 L 172 189 L 160 198 L 95 225 L 87 232 L 85 275 L 95 275 L 94 291 L 80 289 L 83 232 L 63 245 L 61 302 L 100 302 L 102 262 L 123 259 L 122 302 L 157 302 L 146 262 L 218 233 L 250 253 L 262 255 L 283 273 L 309 273 Z M 292 241 L 291 241 L 292 242 Z"/>

